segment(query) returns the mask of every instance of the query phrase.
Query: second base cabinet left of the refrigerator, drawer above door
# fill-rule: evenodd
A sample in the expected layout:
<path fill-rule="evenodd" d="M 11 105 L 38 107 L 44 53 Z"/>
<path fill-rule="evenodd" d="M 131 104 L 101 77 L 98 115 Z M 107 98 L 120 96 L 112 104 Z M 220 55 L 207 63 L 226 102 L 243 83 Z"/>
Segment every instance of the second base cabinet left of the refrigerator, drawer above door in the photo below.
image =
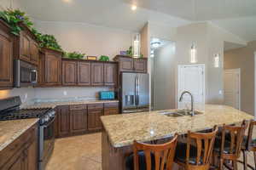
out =
<path fill-rule="evenodd" d="M 103 104 L 88 105 L 88 130 L 102 129 Z"/>

